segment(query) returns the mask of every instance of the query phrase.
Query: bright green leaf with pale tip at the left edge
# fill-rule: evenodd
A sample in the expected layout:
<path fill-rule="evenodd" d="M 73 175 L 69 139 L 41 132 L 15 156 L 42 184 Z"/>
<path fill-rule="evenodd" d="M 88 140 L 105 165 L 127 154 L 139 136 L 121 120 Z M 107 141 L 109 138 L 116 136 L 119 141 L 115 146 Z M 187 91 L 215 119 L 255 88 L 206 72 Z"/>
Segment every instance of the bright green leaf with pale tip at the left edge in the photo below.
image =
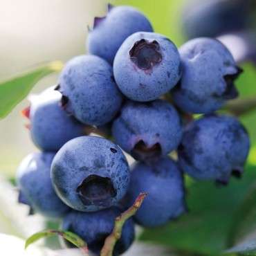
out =
<path fill-rule="evenodd" d="M 21 100 L 26 98 L 42 77 L 60 71 L 62 62 L 55 61 L 0 82 L 0 119 L 4 118 Z"/>

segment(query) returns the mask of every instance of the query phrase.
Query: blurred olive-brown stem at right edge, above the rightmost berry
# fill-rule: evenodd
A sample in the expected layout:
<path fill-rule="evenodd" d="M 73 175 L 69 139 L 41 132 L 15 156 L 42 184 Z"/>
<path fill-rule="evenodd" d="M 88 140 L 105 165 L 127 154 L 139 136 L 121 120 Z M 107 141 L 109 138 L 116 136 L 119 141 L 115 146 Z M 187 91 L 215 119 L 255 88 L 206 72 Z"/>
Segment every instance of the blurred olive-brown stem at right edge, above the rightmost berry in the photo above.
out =
<path fill-rule="evenodd" d="M 224 109 L 235 116 L 242 116 L 250 111 L 256 110 L 256 97 L 250 96 L 248 98 L 232 100 L 226 104 Z"/>

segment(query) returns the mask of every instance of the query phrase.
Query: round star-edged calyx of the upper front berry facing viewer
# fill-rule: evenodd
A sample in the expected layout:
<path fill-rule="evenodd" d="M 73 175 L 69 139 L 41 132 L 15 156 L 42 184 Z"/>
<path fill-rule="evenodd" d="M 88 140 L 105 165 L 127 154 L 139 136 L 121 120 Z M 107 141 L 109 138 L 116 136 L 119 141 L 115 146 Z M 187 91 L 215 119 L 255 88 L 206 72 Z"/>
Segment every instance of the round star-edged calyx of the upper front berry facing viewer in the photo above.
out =
<path fill-rule="evenodd" d="M 160 46 L 156 40 L 148 42 L 145 39 L 140 39 L 129 51 L 130 59 L 138 68 L 149 70 L 163 59 Z"/>

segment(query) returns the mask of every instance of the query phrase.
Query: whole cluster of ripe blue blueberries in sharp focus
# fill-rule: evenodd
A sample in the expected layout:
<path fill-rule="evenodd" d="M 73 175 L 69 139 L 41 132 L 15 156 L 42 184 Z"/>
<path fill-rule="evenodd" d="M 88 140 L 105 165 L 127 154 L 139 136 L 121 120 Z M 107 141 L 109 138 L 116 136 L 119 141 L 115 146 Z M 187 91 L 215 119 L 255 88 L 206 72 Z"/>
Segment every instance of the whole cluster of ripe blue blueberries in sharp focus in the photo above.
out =
<path fill-rule="evenodd" d="M 57 86 L 24 110 L 42 152 L 19 166 L 19 202 L 62 217 L 62 228 L 99 255 L 114 219 L 147 192 L 122 229 L 113 253 L 120 255 L 134 240 L 134 221 L 161 226 L 186 211 L 183 173 L 219 183 L 241 176 L 248 134 L 214 113 L 237 97 L 241 68 L 216 39 L 178 50 L 128 6 L 96 17 L 87 46 L 89 55 L 67 62 Z M 136 160 L 130 167 L 122 150 Z"/>

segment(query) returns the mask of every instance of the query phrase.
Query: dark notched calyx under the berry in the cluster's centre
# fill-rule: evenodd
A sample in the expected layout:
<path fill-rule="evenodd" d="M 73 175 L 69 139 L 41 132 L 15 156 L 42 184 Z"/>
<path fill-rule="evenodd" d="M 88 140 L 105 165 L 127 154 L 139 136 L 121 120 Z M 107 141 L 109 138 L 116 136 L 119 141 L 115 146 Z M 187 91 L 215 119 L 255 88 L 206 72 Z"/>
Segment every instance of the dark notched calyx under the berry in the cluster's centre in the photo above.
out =
<path fill-rule="evenodd" d="M 138 143 L 132 149 L 131 154 L 134 158 L 138 159 L 148 159 L 148 158 L 156 158 L 161 156 L 161 145 L 160 143 L 156 143 L 152 145 L 152 147 L 148 147 L 143 140 L 139 140 Z"/>

